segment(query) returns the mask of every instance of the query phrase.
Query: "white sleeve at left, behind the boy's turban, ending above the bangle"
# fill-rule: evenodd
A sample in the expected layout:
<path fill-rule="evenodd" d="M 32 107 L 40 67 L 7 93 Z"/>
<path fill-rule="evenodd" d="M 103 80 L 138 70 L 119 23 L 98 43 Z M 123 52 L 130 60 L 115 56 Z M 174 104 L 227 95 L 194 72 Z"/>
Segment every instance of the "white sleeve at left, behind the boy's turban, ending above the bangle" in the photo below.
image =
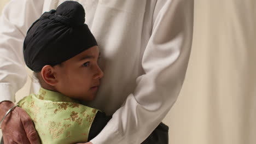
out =
<path fill-rule="evenodd" d="M 0 101 L 15 101 L 26 82 L 23 41 L 27 29 L 42 14 L 43 0 L 11 0 L 0 17 Z"/>

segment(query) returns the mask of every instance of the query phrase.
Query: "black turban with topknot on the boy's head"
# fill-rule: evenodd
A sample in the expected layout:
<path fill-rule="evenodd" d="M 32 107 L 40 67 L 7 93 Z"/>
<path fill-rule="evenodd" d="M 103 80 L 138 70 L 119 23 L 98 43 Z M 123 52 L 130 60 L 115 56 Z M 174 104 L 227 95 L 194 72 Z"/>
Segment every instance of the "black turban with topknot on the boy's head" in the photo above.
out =
<path fill-rule="evenodd" d="M 28 68 L 35 72 L 44 65 L 57 65 L 97 45 L 85 22 L 81 4 L 66 1 L 45 12 L 28 29 L 23 52 Z"/>

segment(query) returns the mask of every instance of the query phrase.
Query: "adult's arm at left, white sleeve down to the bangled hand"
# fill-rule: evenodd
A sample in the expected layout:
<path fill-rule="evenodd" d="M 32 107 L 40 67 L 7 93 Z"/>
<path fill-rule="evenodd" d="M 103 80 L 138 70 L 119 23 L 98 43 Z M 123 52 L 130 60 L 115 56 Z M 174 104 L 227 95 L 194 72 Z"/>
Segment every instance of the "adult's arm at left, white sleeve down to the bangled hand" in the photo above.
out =
<path fill-rule="evenodd" d="M 27 29 L 42 14 L 43 0 L 11 0 L 0 17 L 0 118 L 13 106 L 15 93 L 26 82 L 22 52 Z M 3 101 L 8 100 L 8 101 Z M 15 107 L 2 125 L 4 142 L 38 143 L 38 136 L 27 113 Z M 30 142 L 28 142 L 30 141 Z"/>

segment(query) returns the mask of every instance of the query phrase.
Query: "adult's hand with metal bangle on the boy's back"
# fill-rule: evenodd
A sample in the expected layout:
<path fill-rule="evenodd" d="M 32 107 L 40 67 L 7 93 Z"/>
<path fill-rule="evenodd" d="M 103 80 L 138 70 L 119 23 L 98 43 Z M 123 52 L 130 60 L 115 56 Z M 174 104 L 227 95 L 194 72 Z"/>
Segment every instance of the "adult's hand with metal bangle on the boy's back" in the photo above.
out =
<path fill-rule="evenodd" d="M 0 119 L 13 106 L 11 101 L 0 103 Z M 20 107 L 15 107 L 5 117 L 2 125 L 4 143 L 40 143 L 32 119 L 27 112 Z"/>

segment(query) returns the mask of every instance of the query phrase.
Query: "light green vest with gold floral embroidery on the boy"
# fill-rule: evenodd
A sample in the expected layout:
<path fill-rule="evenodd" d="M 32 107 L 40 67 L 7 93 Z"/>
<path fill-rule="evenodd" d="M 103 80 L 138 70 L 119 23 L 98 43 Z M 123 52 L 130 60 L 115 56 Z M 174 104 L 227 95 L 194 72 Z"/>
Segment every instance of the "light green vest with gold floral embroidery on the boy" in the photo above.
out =
<path fill-rule="evenodd" d="M 44 88 L 18 104 L 32 118 L 42 144 L 87 142 L 98 111 Z"/>

